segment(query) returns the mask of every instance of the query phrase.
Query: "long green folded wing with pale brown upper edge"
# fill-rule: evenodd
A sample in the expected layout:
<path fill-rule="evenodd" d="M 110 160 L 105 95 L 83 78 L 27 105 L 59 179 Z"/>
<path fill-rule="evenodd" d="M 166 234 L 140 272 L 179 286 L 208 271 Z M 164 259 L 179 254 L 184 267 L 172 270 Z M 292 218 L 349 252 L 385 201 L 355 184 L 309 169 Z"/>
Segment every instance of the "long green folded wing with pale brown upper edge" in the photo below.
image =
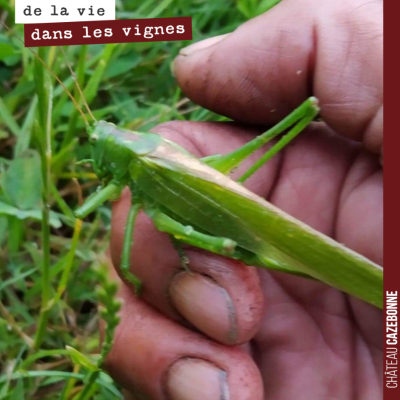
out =
<path fill-rule="evenodd" d="M 149 197 L 194 227 L 376 306 L 382 267 L 279 210 L 164 140 L 132 177 Z"/>

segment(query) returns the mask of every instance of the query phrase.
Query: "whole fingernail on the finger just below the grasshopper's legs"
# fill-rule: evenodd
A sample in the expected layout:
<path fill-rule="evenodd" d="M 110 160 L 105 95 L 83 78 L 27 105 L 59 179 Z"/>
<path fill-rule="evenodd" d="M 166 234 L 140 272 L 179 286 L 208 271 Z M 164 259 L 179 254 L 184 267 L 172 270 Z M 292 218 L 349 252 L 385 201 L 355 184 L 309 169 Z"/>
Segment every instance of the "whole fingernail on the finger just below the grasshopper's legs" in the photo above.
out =
<path fill-rule="evenodd" d="M 237 342 L 235 306 L 215 281 L 181 272 L 171 282 L 169 294 L 176 310 L 203 333 L 223 343 Z"/>

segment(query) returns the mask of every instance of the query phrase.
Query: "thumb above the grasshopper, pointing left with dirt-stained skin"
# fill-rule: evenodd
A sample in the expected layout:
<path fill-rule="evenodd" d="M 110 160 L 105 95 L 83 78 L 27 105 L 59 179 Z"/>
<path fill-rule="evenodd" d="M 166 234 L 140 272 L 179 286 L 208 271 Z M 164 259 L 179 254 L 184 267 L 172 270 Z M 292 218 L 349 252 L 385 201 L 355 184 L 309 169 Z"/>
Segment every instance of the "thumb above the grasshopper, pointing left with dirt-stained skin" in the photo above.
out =
<path fill-rule="evenodd" d="M 382 145 L 383 2 L 284 0 L 174 62 L 184 92 L 235 120 L 269 125 L 315 95 L 336 131 Z"/>

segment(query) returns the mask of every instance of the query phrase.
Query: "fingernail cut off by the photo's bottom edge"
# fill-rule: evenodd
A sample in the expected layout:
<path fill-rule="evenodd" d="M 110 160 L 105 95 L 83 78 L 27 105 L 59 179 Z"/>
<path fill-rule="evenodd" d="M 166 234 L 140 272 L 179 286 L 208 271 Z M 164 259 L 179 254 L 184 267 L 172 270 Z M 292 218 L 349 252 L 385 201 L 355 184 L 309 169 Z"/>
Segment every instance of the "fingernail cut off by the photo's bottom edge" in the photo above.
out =
<path fill-rule="evenodd" d="M 229 400 L 226 372 L 197 358 L 184 358 L 170 367 L 166 391 L 171 400 Z"/>

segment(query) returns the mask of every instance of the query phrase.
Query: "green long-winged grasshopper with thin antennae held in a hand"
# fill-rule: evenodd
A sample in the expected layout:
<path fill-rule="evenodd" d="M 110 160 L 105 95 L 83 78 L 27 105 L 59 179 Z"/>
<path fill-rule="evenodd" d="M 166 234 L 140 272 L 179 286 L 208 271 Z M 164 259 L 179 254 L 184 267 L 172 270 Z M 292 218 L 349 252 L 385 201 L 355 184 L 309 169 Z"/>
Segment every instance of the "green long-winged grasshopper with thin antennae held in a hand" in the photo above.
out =
<path fill-rule="evenodd" d="M 309 98 L 290 115 L 226 155 L 197 159 L 155 133 L 134 132 L 96 121 L 71 66 L 89 123 L 73 95 L 32 51 L 67 92 L 86 125 L 94 172 L 101 187 L 75 211 L 83 219 L 106 201 L 117 200 L 125 187 L 131 207 L 125 226 L 120 271 L 140 291 L 131 273 L 136 218 L 144 211 L 155 227 L 173 238 L 183 264 L 181 245 L 195 246 L 247 265 L 320 280 L 377 307 L 383 307 L 382 267 L 279 210 L 247 190 L 243 183 L 282 150 L 318 115 L 318 100 Z M 247 157 L 285 133 L 239 179 L 229 173 Z"/>

